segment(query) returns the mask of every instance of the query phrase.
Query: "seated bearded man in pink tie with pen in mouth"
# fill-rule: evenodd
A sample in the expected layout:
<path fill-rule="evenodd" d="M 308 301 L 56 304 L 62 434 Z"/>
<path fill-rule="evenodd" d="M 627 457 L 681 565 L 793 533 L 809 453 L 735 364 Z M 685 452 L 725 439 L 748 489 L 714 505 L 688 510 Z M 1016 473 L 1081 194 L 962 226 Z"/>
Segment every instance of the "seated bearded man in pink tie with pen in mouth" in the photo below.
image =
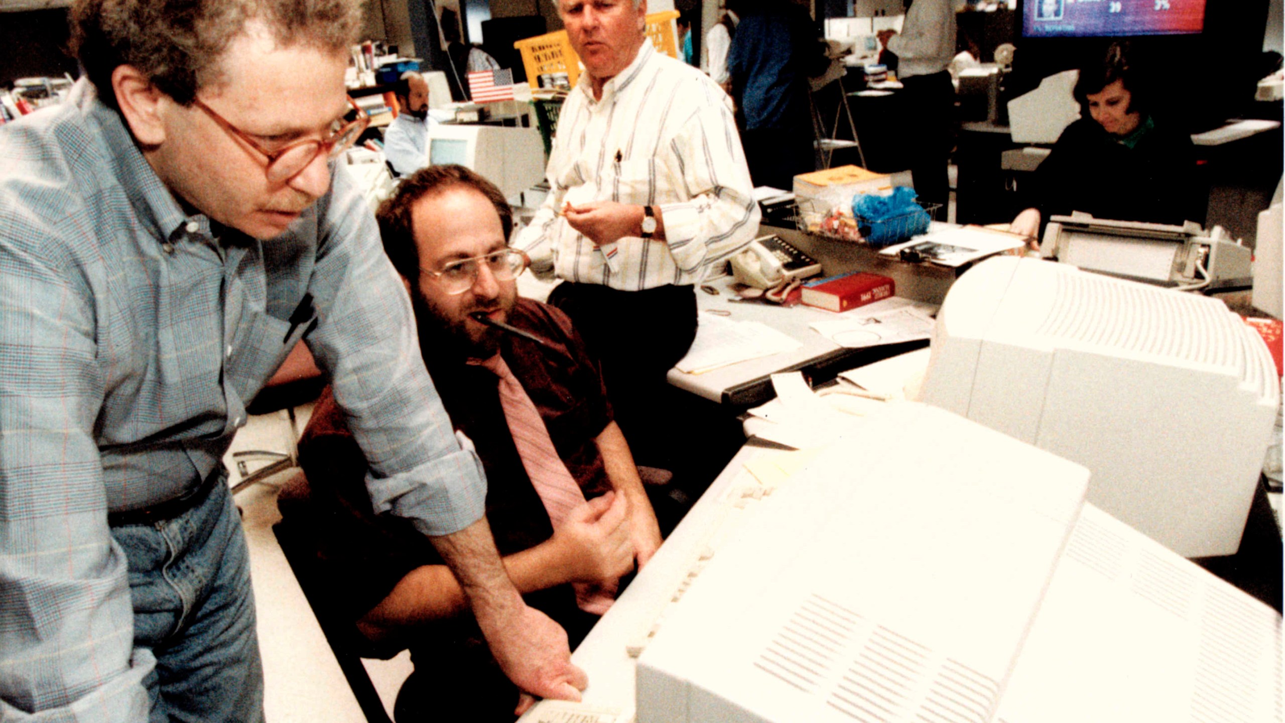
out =
<path fill-rule="evenodd" d="M 403 180 L 378 216 L 411 295 L 424 363 L 456 435 L 487 472 L 488 520 L 509 576 L 574 646 L 610 605 L 618 578 L 660 544 L 601 377 L 562 311 L 518 298 L 526 256 L 508 246 L 511 212 L 490 181 L 463 166 L 430 166 Z M 333 602 L 388 654 L 411 651 L 415 672 L 397 696 L 397 720 L 511 720 L 518 690 L 428 538 L 371 511 L 365 459 L 329 394 L 299 461 Z"/>

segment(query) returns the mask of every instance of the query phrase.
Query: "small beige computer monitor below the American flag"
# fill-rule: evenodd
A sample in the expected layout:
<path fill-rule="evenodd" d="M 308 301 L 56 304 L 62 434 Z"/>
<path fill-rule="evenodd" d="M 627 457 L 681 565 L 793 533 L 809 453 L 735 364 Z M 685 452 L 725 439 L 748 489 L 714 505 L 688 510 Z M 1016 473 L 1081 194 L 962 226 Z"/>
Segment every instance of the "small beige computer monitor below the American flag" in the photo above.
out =
<path fill-rule="evenodd" d="M 535 127 L 442 124 L 428 130 L 428 162 L 473 169 L 513 197 L 544 179 L 545 147 Z"/>

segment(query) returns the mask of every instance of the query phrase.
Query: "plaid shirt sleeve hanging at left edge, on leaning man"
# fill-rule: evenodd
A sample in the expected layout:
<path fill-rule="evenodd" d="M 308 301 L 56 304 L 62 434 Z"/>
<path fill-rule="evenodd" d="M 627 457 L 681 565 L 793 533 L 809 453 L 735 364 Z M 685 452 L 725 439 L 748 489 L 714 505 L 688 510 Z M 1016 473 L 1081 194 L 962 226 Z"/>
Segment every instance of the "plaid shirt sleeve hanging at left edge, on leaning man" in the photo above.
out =
<path fill-rule="evenodd" d="M 94 425 L 95 309 L 58 221 L 0 188 L 0 720 L 144 722 Z"/>

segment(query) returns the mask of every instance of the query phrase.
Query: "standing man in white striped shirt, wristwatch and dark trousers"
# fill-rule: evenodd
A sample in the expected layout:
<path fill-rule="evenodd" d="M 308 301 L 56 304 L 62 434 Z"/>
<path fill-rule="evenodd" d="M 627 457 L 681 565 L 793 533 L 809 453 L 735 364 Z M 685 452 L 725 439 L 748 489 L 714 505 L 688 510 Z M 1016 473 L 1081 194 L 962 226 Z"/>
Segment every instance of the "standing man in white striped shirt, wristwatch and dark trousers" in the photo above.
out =
<path fill-rule="evenodd" d="M 694 284 L 754 238 L 758 205 L 727 95 L 646 42 L 645 0 L 560 0 L 585 73 L 563 105 L 551 192 L 515 247 L 564 283 L 549 302 L 603 363 L 644 464 L 664 376 L 696 334 Z"/>

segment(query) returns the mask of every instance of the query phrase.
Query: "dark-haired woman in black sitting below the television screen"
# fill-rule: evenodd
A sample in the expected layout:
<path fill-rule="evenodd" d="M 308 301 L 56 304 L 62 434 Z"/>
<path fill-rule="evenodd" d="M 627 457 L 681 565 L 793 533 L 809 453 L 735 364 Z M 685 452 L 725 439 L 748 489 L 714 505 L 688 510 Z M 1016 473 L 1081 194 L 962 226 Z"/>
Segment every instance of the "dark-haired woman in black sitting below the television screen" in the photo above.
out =
<path fill-rule="evenodd" d="M 1182 129 L 1156 122 L 1119 45 L 1079 71 L 1081 118 L 1061 131 L 1024 192 L 1031 207 L 1009 226 L 1038 246 L 1049 216 L 1073 211 L 1096 219 L 1182 224 L 1203 220 L 1195 148 Z"/>

